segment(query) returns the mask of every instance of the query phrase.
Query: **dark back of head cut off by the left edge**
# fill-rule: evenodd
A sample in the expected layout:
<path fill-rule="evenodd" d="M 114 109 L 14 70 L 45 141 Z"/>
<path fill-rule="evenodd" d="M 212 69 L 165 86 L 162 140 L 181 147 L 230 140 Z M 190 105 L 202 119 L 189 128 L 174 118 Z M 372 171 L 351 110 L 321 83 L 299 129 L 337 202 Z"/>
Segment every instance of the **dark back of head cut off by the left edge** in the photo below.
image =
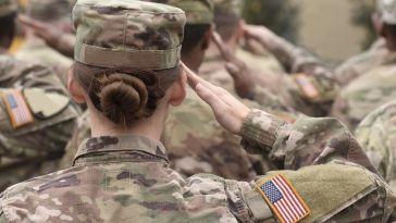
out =
<path fill-rule="evenodd" d="M 0 0 L 0 47 L 9 47 L 15 33 L 16 0 Z"/>

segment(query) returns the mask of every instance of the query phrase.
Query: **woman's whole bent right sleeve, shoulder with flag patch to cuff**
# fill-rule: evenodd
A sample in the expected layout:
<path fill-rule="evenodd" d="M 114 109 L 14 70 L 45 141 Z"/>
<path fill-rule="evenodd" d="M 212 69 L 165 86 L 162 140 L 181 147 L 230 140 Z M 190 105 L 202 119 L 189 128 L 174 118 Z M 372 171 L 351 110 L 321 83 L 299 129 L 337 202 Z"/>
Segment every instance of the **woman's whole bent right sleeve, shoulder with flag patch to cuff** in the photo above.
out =
<path fill-rule="evenodd" d="M 339 121 L 301 117 L 287 124 L 253 110 L 245 120 L 243 137 L 248 151 L 269 156 L 280 169 L 257 177 L 243 191 L 255 221 L 389 220 L 396 205 L 394 194 Z M 285 191 L 292 191 L 307 208 L 307 215 L 296 220 L 298 216 L 286 209 L 285 213 L 277 210 L 276 201 L 272 201 L 277 190 L 267 190 L 271 184 L 280 184 L 279 190 L 285 187 Z"/>

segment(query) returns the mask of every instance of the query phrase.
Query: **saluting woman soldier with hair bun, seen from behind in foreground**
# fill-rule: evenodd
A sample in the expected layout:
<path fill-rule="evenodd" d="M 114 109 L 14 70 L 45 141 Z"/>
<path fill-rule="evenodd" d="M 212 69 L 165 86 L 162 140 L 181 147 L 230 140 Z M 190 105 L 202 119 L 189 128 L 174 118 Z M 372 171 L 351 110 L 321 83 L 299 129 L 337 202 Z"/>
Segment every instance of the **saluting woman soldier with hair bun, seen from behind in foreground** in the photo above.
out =
<path fill-rule="evenodd" d="M 88 104 L 92 138 L 73 168 L 1 194 L 1 223 L 392 221 L 395 196 L 338 121 L 286 124 L 180 65 L 183 11 L 79 0 L 73 14 L 78 42 L 69 89 Z M 186 73 L 222 126 L 289 171 L 248 184 L 208 174 L 184 178 L 169 169 L 158 140 L 169 107 L 186 94 Z"/>

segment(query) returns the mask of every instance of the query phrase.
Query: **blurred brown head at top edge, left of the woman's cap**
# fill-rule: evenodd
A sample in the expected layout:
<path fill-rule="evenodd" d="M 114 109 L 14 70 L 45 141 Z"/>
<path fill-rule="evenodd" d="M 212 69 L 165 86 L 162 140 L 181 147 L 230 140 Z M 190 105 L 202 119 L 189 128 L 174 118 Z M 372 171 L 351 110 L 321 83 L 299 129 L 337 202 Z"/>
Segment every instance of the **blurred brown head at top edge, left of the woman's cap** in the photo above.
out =
<path fill-rule="evenodd" d="M 28 0 L 26 14 L 35 20 L 54 23 L 70 17 L 70 0 Z"/>

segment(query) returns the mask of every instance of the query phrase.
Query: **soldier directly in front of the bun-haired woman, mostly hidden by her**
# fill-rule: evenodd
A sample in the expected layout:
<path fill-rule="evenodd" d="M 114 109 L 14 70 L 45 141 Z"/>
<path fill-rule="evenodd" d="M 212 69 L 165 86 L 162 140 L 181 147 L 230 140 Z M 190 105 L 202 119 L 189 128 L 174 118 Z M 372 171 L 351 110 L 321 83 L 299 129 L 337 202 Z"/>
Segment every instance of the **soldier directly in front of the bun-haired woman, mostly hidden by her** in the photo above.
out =
<path fill-rule="evenodd" d="M 151 0 L 151 2 L 159 2 Z M 213 7 L 209 0 L 170 0 L 161 3 L 178 7 L 186 12 L 187 24 L 182 46 L 182 60 L 198 71 L 211 41 Z M 195 114 L 196 119 L 189 119 Z M 90 136 L 90 122 L 79 117 L 75 138 L 67 146 L 64 168 L 70 166 L 79 144 Z M 224 131 L 206 103 L 188 89 L 185 103 L 171 109 L 161 139 L 169 148 L 171 168 L 185 176 L 197 173 L 249 181 L 256 176 L 248 154 L 239 146 L 240 139 Z M 228 163 L 225 165 L 225 163 Z"/>

